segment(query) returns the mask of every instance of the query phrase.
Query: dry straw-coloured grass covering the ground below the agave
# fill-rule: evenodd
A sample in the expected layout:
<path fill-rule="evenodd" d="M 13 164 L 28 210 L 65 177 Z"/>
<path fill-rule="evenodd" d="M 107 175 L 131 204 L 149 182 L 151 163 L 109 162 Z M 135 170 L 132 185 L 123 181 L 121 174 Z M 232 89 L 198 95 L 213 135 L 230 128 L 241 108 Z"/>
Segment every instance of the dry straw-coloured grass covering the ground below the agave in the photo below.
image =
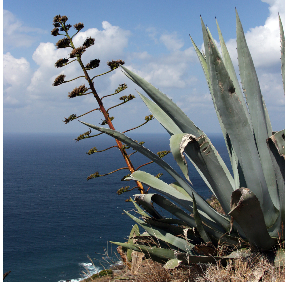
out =
<path fill-rule="evenodd" d="M 285 267 L 275 268 L 265 256 L 251 252 L 246 258 L 230 260 L 221 264 L 192 264 L 166 270 L 164 264 L 153 260 L 143 260 L 137 275 L 132 275 L 127 267 L 112 267 L 115 274 L 94 278 L 93 282 L 283 282 Z M 116 271 L 115 271 L 116 270 Z"/>

